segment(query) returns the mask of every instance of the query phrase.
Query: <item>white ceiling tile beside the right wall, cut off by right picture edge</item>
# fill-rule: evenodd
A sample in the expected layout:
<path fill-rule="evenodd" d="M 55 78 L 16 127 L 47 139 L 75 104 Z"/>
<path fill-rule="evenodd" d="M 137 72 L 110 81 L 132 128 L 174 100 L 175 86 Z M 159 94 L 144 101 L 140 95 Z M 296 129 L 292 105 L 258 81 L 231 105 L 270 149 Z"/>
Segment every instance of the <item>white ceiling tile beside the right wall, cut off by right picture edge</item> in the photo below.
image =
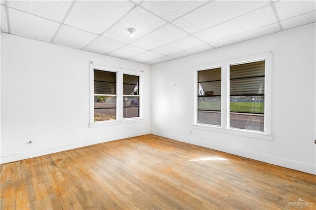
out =
<path fill-rule="evenodd" d="M 296 16 L 293 18 L 281 21 L 284 30 L 291 29 L 297 26 L 313 23 L 316 21 L 316 11 L 306 13 L 304 15 Z"/>

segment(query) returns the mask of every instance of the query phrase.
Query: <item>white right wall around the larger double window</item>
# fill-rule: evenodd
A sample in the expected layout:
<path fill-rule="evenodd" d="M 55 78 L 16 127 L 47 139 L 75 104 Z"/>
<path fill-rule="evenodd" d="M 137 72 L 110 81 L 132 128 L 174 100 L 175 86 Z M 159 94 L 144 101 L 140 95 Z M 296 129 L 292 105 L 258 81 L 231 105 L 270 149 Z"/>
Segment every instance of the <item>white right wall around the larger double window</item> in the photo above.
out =
<path fill-rule="evenodd" d="M 315 39 L 314 23 L 152 66 L 152 133 L 316 174 Z M 269 51 L 272 140 L 195 129 L 192 67 Z"/>

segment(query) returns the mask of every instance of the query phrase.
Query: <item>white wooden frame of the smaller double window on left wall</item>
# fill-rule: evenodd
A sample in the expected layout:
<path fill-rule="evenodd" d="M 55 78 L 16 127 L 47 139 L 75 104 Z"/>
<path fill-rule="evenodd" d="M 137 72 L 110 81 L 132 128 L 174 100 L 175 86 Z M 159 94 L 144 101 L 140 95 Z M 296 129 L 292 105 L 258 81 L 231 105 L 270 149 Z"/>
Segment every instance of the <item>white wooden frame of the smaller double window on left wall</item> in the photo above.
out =
<path fill-rule="evenodd" d="M 94 121 L 94 70 L 104 70 L 110 72 L 116 72 L 116 120 L 107 120 L 107 121 Z M 139 76 L 139 117 L 133 118 L 123 118 L 123 74 L 135 75 Z M 142 75 L 141 71 L 139 73 L 135 73 L 135 70 L 126 70 L 122 68 L 108 67 L 98 64 L 89 65 L 89 123 L 88 127 L 99 127 L 99 126 L 108 126 L 108 125 L 117 125 L 124 123 L 135 123 L 135 122 L 143 122 L 144 119 L 142 117 Z"/>

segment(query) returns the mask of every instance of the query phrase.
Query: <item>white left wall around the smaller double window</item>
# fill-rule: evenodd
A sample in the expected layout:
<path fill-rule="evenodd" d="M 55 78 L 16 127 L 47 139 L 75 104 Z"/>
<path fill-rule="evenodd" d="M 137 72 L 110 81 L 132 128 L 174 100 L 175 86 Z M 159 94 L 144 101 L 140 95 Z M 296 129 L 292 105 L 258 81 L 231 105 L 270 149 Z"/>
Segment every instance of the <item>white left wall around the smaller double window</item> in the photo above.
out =
<path fill-rule="evenodd" d="M 144 121 L 88 127 L 90 61 L 144 70 Z M 151 133 L 150 78 L 147 65 L 1 34 L 1 163 Z"/>

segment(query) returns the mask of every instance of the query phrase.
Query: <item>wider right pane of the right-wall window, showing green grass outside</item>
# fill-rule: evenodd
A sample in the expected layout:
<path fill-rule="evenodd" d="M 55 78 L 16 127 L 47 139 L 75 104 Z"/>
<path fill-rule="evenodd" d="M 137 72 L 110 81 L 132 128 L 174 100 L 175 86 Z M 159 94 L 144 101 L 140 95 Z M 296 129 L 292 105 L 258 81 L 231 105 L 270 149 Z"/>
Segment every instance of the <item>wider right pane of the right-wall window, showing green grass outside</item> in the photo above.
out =
<path fill-rule="evenodd" d="M 230 65 L 230 127 L 264 131 L 265 61 Z"/>

